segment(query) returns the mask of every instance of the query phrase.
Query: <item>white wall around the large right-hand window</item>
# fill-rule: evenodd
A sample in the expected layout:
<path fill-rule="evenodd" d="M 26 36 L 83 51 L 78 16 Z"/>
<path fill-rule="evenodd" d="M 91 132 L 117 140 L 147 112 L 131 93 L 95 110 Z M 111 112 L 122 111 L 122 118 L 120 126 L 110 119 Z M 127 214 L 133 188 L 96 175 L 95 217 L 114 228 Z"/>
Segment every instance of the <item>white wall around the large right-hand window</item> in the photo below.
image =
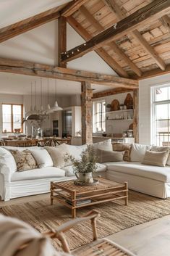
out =
<path fill-rule="evenodd" d="M 140 144 L 152 144 L 151 130 L 151 100 L 150 88 L 169 83 L 170 74 L 140 80 L 139 83 L 139 141 Z"/>

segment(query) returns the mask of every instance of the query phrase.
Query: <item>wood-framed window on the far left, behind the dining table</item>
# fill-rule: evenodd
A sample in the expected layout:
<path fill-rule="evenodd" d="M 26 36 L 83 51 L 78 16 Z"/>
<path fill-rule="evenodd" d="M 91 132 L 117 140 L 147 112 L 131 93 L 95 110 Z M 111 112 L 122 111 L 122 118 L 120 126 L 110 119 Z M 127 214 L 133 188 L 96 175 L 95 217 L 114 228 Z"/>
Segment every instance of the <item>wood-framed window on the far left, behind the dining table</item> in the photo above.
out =
<path fill-rule="evenodd" d="M 2 131 L 13 133 L 15 129 L 23 131 L 23 106 L 19 104 L 2 104 Z"/>

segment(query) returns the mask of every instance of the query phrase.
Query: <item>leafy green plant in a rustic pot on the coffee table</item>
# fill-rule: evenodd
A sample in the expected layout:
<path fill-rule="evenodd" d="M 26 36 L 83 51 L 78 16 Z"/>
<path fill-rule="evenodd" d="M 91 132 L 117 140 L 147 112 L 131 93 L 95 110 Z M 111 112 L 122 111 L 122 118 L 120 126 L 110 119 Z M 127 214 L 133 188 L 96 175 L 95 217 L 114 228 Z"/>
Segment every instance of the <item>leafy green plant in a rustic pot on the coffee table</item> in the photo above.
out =
<path fill-rule="evenodd" d="M 93 183 L 93 173 L 97 169 L 97 160 L 98 157 L 92 145 L 88 145 L 88 148 L 82 151 L 79 160 L 68 153 L 64 157 L 65 162 L 72 162 L 75 176 L 83 183 Z"/>

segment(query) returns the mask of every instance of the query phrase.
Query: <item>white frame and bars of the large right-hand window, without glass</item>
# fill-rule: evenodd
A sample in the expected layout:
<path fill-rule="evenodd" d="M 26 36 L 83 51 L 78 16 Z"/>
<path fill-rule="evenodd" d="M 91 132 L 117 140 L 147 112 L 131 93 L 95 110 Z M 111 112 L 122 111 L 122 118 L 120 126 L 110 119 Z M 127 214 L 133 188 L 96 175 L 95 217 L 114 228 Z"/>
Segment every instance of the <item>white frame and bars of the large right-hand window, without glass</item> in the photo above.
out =
<path fill-rule="evenodd" d="M 161 104 L 170 104 L 170 98 L 166 99 L 166 100 L 162 100 L 162 101 L 156 101 L 156 89 L 161 89 L 161 88 L 165 88 L 165 87 L 169 87 L 170 88 L 170 83 L 164 83 L 161 85 L 157 85 L 157 86 L 152 86 L 151 89 L 151 94 L 150 94 L 150 103 L 151 103 L 151 118 L 150 118 L 150 138 L 151 138 L 151 144 L 157 145 L 157 133 L 156 133 L 156 106 L 161 105 Z M 167 119 L 168 122 L 170 123 L 170 118 Z M 170 127 L 168 128 L 168 134 L 170 134 Z M 169 138 L 169 136 L 168 136 Z M 169 140 L 170 142 L 170 140 Z M 157 145 L 158 146 L 158 145 Z"/>

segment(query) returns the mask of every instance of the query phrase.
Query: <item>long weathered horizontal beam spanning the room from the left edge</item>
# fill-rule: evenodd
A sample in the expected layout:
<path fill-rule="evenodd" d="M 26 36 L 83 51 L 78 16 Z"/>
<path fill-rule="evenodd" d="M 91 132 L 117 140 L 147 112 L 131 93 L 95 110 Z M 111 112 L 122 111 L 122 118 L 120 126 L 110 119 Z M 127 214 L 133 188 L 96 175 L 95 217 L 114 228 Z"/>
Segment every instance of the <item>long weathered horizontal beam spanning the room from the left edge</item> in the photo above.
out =
<path fill-rule="evenodd" d="M 114 75 L 104 75 L 88 71 L 72 70 L 64 67 L 42 65 L 34 62 L 25 62 L 15 59 L 0 58 L 0 72 L 15 73 L 20 75 L 33 75 L 45 78 L 57 78 L 77 82 L 89 82 L 105 86 L 123 88 L 138 88 L 138 81 L 128 78 L 119 78 Z"/>

